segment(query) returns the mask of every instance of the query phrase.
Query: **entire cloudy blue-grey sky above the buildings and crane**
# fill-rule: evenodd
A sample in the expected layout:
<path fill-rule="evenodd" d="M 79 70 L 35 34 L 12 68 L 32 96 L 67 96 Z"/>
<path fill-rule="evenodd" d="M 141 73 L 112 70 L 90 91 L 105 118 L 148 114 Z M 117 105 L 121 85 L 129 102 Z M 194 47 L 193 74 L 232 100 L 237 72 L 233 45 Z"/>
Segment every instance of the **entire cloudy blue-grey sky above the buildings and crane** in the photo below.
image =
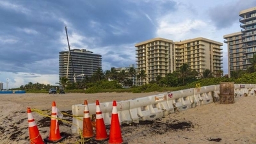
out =
<path fill-rule="evenodd" d="M 162 37 L 223 42 L 240 31 L 239 12 L 256 0 L 1 0 L 0 82 L 58 82 L 58 54 L 71 49 L 102 55 L 102 69 L 135 63 L 134 44 Z M 227 74 L 227 44 L 223 44 Z"/>

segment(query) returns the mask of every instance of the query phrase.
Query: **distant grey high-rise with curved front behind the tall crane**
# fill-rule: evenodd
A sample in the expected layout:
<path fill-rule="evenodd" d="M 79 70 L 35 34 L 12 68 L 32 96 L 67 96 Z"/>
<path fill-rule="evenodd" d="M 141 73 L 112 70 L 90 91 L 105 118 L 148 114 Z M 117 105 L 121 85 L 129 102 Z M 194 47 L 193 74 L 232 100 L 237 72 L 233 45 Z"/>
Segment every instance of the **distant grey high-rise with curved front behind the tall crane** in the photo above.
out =
<path fill-rule="evenodd" d="M 67 77 L 72 83 L 74 77 L 76 81 L 81 81 L 86 76 L 91 77 L 99 67 L 102 67 L 101 55 L 86 49 L 72 49 L 70 53 L 61 51 L 59 54 L 59 76 Z"/>

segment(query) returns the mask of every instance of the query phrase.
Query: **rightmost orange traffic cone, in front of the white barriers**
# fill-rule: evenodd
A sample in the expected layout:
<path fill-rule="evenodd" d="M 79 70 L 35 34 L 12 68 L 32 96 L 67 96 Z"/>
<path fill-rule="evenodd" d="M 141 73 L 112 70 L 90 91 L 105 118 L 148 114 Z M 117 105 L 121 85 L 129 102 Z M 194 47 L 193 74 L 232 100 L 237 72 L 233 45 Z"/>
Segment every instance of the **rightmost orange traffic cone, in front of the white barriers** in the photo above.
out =
<path fill-rule="evenodd" d="M 122 143 L 122 134 L 119 124 L 119 118 L 116 108 L 116 100 L 113 101 L 112 115 L 111 115 L 111 125 L 110 125 L 110 134 L 109 134 L 109 144 L 118 144 Z"/>

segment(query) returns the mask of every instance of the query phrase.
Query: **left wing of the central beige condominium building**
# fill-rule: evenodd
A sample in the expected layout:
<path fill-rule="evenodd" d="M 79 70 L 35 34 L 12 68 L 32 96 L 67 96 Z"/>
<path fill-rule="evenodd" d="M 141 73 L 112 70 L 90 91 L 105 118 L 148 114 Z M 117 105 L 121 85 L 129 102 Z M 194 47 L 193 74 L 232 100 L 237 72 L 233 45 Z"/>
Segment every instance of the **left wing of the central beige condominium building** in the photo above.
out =
<path fill-rule="evenodd" d="M 145 71 L 145 79 L 137 79 L 138 86 L 156 80 L 157 76 L 165 77 L 173 69 L 173 41 L 164 38 L 153 38 L 140 42 L 136 47 L 137 72 Z"/>

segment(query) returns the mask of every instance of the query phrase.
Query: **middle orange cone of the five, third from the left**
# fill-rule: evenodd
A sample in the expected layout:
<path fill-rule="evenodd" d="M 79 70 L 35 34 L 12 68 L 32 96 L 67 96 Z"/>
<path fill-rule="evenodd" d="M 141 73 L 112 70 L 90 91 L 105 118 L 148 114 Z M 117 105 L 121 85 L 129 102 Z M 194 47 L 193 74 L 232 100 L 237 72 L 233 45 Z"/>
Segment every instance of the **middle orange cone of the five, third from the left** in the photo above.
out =
<path fill-rule="evenodd" d="M 83 137 L 92 138 L 94 136 L 92 122 L 90 118 L 87 100 L 84 100 Z"/>

